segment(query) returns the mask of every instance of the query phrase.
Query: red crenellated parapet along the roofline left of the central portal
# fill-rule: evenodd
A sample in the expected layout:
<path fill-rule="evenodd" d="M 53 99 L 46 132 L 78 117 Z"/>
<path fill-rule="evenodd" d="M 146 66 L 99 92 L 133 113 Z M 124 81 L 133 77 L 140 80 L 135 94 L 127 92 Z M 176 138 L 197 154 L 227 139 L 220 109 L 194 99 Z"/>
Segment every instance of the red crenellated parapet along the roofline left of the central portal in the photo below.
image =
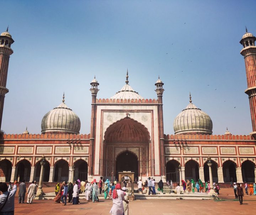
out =
<path fill-rule="evenodd" d="M 4 139 L 90 139 L 90 134 L 4 134 Z"/>

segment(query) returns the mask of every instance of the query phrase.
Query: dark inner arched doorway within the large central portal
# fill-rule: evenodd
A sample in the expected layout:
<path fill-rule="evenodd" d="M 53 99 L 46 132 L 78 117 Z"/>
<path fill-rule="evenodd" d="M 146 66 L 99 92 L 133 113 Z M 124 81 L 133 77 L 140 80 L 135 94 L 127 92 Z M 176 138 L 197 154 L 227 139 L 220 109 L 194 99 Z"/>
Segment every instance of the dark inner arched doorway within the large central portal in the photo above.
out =
<path fill-rule="evenodd" d="M 125 151 L 117 156 L 116 159 L 116 178 L 118 180 L 118 172 L 131 171 L 134 172 L 134 178 L 138 178 L 138 158 L 129 151 Z"/>

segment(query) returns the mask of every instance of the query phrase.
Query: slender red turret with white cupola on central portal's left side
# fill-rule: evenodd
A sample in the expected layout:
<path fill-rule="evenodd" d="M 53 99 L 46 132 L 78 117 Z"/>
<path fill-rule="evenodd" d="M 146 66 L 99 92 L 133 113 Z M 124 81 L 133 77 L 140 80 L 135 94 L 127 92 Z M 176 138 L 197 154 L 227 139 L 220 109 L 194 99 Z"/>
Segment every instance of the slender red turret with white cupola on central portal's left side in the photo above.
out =
<path fill-rule="evenodd" d="M 94 159 L 94 140 L 95 140 L 95 121 L 96 121 L 96 97 L 99 91 L 98 89 L 98 81 L 95 76 L 91 82 L 91 94 L 92 94 L 92 108 L 91 108 L 91 137 L 90 137 L 90 157 L 88 164 L 88 181 L 92 179 L 93 175 L 93 159 Z"/>

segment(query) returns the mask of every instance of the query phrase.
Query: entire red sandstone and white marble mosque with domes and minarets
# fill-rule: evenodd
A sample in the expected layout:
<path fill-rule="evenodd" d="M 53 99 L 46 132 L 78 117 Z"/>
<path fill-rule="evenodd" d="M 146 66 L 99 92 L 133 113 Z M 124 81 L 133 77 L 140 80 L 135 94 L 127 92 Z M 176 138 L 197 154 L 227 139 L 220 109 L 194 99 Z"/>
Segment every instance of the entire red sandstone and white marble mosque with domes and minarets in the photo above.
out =
<path fill-rule="evenodd" d="M 128 71 L 123 88 L 110 98 L 97 98 L 99 83 L 91 81 L 90 134 L 80 134 L 80 119 L 63 100 L 44 115 L 41 134 L 5 134 L 0 137 L 0 181 L 39 181 L 42 155 L 46 157 L 44 182 L 71 181 L 70 172 L 80 180 L 98 181 L 123 172 L 132 177 L 152 176 L 156 181 L 209 180 L 208 156 L 213 181 L 255 182 L 256 168 L 256 37 L 242 36 L 252 130 L 250 135 L 213 135 L 209 115 L 188 100 L 174 120 L 174 134 L 164 134 L 164 83 L 155 83 L 153 99 L 143 98 L 129 84 Z M 9 57 L 14 43 L 11 34 L 0 36 L 0 126 L 4 108 Z M 150 87 L 149 87 L 150 90 Z M 153 86 L 151 88 L 153 92 Z M 168 95 L 166 95 L 168 97 Z M 167 98 L 168 99 L 168 98 Z M 185 107 L 186 104 L 184 104 Z M 46 110 L 47 111 L 47 110 Z M 89 126 L 89 125 L 88 125 Z"/>

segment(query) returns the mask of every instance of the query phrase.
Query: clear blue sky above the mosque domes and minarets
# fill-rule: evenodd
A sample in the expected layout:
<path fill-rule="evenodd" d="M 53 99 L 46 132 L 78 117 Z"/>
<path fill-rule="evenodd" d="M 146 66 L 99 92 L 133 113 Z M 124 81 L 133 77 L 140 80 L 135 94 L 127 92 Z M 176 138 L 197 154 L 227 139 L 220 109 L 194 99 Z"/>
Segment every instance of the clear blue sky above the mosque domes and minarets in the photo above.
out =
<path fill-rule="evenodd" d="M 90 82 L 97 98 L 129 84 L 157 98 L 164 82 L 164 133 L 189 103 L 213 121 L 213 134 L 252 131 L 245 65 L 239 43 L 256 34 L 256 1 L 1 0 L 1 32 L 9 25 L 10 57 L 2 129 L 41 133 L 44 114 L 65 102 L 90 132 Z M 215 90 L 216 89 L 216 90 Z M 234 108 L 236 107 L 236 108 Z"/>

